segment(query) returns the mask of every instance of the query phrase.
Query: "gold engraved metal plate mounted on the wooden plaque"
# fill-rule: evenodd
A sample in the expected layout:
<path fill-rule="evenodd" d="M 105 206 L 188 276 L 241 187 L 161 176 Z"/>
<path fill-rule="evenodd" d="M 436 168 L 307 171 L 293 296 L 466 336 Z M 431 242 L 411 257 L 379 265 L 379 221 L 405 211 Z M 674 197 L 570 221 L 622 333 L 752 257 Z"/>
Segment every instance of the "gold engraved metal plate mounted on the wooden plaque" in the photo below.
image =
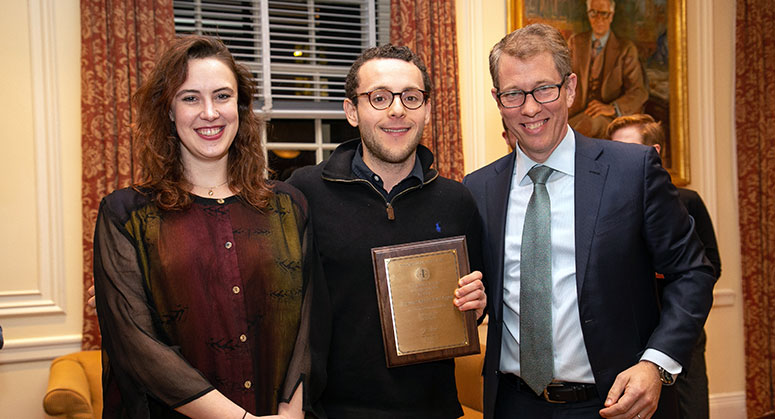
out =
<path fill-rule="evenodd" d="M 458 271 L 454 249 L 385 260 L 398 355 L 468 343 L 463 313 L 455 307 Z"/>

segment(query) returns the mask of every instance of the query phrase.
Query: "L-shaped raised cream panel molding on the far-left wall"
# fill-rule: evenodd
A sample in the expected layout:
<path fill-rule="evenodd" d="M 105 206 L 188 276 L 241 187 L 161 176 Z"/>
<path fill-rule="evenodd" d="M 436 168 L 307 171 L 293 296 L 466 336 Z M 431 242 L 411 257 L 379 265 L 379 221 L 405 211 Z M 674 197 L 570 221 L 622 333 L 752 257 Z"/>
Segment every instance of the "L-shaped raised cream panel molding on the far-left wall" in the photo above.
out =
<path fill-rule="evenodd" d="M 0 292 L 0 317 L 63 313 L 64 231 L 54 0 L 29 0 L 35 148 L 37 289 Z"/>

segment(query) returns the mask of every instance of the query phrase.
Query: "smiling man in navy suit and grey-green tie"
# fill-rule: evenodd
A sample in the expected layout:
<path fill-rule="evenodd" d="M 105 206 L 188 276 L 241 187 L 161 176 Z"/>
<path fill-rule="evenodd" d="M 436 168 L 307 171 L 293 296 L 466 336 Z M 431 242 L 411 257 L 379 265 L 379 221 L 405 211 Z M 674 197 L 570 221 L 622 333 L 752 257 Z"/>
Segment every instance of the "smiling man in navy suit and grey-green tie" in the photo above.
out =
<path fill-rule="evenodd" d="M 714 277 L 670 176 L 651 147 L 568 127 L 577 77 L 556 29 L 507 35 L 490 71 L 518 147 L 464 180 L 485 229 L 485 418 L 675 417 L 663 384 L 688 362 Z"/>

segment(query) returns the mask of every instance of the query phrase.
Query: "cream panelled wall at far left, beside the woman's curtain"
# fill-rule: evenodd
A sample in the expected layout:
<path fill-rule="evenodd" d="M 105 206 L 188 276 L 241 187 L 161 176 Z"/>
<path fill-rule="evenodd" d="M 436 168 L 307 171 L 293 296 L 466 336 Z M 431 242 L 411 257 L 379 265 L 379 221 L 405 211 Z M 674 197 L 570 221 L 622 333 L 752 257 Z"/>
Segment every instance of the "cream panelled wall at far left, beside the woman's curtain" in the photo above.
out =
<path fill-rule="evenodd" d="M 42 418 L 48 366 L 80 349 L 77 0 L 0 0 L 0 412 Z"/>

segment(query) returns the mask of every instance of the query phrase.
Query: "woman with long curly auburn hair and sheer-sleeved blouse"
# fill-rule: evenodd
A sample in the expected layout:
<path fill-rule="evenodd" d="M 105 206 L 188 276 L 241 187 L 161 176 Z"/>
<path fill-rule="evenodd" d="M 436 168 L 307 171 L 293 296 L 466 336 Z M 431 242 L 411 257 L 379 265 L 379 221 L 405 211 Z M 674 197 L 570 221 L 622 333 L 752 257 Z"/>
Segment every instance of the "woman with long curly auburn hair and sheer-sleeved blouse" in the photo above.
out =
<path fill-rule="evenodd" d="M 301 417 L 317 399 L 307 203 L 266 178 L 254 89 L 191 36 L 134 97 L 141 182 L 103 199 L 94 239 L 105 417 Z"/>

